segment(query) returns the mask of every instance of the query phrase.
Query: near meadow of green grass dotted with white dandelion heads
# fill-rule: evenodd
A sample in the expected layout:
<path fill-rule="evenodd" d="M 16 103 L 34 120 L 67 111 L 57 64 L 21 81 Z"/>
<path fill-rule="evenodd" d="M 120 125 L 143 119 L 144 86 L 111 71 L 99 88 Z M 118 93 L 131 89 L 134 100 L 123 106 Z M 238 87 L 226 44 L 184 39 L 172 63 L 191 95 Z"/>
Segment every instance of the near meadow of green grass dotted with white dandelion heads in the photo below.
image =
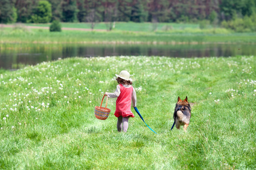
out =
<path fill-rule="evenodd" d="M 253 56 L 95 57 L 1 72 L 0 169 L 255 169 L 255 65 Z M 107 120 L 94 117 L 121 70 L 158 135 L 136 114 L 118 133 L 115 99 Z M 170 130 L 178 96 L 193 104 L 187 133 Z"/>

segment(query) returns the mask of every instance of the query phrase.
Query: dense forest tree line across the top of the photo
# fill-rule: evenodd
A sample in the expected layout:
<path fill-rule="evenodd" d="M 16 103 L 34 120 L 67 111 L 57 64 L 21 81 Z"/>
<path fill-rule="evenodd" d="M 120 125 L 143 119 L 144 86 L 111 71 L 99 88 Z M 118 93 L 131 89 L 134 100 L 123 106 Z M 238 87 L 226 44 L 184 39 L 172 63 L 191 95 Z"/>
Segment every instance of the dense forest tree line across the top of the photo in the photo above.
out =
<path fill-rule="evenodd" d="M 1 0 L 0 23 L 228 22 L 256 13 L 256 0 Z"/>

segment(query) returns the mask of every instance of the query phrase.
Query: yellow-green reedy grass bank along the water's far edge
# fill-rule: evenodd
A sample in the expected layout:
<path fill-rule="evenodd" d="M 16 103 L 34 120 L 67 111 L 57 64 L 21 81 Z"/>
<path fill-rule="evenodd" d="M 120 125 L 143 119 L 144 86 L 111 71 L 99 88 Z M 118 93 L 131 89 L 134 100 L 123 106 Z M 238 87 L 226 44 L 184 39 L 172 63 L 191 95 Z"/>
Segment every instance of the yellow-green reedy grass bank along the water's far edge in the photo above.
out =
<path fill-rule="evenodd" d="M 76 28 L 73 25 L 73 28 Z M 231 33 L 226 29 L 199 29 L 186 27 L 169 31 L 129 31 L 129 29 L 110 32 L 70 31 L 49 32 L 48 29 L 2 28 L 0 45 L 28 44 L 198 44 L 232 43 L 255 44 L 256 33 Z"/>

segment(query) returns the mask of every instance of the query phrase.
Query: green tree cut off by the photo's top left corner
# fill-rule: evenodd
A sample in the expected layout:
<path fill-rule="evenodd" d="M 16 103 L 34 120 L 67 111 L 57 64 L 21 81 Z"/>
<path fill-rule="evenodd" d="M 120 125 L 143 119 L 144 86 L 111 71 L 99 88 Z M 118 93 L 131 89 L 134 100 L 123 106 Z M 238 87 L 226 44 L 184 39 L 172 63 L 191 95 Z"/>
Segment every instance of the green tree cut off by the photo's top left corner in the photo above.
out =
<path fill-rule="evenodd" d="M 15 23 L 17 20 L 16 8 L 14 1 L 0 1 L 0 23 Z"/>

